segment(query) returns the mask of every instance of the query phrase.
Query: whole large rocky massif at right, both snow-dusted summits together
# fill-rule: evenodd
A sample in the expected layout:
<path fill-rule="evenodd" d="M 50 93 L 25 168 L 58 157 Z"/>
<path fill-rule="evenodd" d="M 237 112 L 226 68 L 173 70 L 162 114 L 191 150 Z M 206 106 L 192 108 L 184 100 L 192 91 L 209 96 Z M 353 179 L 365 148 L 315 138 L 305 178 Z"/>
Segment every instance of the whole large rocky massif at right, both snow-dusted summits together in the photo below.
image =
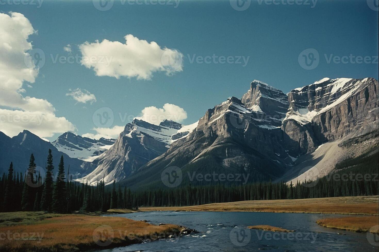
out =
<path fill-rule="evenodd" d="M 241 100 L 231 97 L 209 109 L 195 131 L 123 183 L 163 186 L 159 175 L 171 166 L 180 167 L 183 174 L 249 173 L 249 181 L 304 179 L 298 173 L 306 164 L 309 167 L 305 169 L 316 167 L 327 174 L 339 160 L 332 156 L 368 151 L 372 144 L 377 145 L 376 131 L 375 79 L 324 78 L 292 90 L 288 98 L 254 80 Z M 340 146 L 354 137 L 362 140 L 359 146 Z M 183 175 L 185 179 L 189 182 Z"/>

